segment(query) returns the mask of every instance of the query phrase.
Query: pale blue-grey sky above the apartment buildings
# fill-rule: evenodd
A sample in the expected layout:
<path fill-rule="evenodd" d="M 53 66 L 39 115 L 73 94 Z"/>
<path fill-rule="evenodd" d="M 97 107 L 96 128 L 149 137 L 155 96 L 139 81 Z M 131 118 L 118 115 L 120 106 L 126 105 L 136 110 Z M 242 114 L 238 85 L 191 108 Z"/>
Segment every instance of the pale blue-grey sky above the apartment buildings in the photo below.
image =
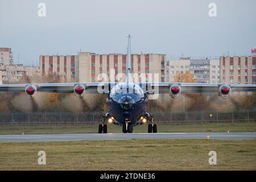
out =
<path fill-rule="evenodd" d="M 256 46 L 255 7 L 255 0 L 1 0 L 0 47 L 12 48 L 14 63 L 36 65 L 39 55 L 126 53 L 131 34 L 132 53 L 244 56 Z"/>

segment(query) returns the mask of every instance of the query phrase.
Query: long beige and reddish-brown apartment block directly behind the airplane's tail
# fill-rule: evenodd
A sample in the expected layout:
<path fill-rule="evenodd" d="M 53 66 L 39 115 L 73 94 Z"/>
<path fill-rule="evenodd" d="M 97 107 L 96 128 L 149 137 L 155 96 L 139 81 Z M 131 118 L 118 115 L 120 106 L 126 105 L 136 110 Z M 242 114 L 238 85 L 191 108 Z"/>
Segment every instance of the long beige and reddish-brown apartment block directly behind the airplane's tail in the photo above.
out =
<path fill-rule="evenodd" d="M 71 56 L 40 56 L 40 73 L 56 72 L 64 76 L 63 82 L 123 81 L 127 69 L 127 55 L 79 52 Z M 133 54 L 131 71 L 138 75 L 135 81 L 166 81 L 166 55 Z M 154 80 L 154 73 L 158 80 Z M 121 76 L 120 76 L 121 75 Z M 150 78 L 150 76 L 152 78 Z M 113 78 L 112 78 L 113 77 Z M 108 80 L 107 80 L 108 79 Z"/>

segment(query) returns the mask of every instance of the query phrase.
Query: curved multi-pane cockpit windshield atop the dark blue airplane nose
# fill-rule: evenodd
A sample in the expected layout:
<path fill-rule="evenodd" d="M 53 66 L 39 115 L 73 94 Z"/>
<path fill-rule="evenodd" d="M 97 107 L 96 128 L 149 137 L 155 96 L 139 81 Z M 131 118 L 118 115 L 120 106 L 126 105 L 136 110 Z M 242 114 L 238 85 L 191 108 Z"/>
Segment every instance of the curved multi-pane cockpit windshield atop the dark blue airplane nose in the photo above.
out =
<path fill-rule="evenodd" d="M 137 94 L 137 96 L 144 97 L 142 88 L 139 85 L 132 83 L 121 83 L 115 85 L 110 92 L 110 97 L 116 96 L 120 93 L 133 93 Z"/>

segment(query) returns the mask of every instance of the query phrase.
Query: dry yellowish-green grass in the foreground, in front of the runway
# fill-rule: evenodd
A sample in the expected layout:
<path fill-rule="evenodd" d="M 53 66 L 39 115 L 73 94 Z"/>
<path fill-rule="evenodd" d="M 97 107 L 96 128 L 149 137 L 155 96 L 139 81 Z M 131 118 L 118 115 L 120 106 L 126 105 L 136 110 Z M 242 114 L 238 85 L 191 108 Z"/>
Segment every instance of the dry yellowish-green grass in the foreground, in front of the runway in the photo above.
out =
<path fill-rule="evenodd" d="M 217 165 L 208 163 L 212 150 Z M 256 140 L 14 142 L 0 151 L 0 170 L 256 170 Z"/>

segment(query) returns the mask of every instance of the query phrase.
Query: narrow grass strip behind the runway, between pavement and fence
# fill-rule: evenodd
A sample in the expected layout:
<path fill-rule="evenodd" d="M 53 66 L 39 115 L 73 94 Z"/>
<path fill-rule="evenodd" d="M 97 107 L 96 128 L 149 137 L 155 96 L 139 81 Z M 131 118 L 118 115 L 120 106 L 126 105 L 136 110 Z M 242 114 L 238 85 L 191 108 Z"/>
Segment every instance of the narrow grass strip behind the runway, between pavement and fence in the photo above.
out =
<path fill-rule="evenodd" d="M 250 123 L 206 123 L 191 125 L 158 125 L 158 132 L 256 132 L 256 122 Z M 0 134 L 67 134 L 97 133 L 98 125 L 0 125 Z M 108 125 L 108 133 L 121 133 L 122 127 Z M 146 133 L 147 125 L 134 127 L 134 133 Z"/>

